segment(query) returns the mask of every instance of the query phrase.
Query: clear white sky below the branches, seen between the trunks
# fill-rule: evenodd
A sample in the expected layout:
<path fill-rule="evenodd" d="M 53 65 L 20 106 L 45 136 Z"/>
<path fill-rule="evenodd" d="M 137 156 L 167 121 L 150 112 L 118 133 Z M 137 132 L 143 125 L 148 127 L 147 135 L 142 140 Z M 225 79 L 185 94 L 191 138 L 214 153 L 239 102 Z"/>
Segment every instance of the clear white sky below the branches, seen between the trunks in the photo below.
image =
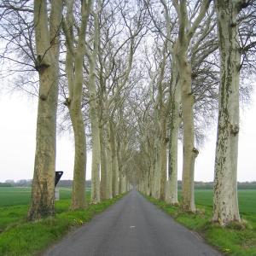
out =
<path fill-rule="evenodd" d="M 32 179 L 36 145 L 37 98 L 18 93 L 0 92 L 0 182 L 8 179 Z M 252 103 L 241 110 L 238 181 L 256 181 L 256 92 Z M 207 131 L 207 140 L 199 148 L 195 161 L 195 180 L 212 181 L 216 127 Z M 57 137 L 56 171 L 61 179 L 73 179 L 73 135 Z M 182 177 L 182 145 L 179 144 L 178 179 Z M 86 178 L 90 179 L 91 154 L 88 152 Z"/>

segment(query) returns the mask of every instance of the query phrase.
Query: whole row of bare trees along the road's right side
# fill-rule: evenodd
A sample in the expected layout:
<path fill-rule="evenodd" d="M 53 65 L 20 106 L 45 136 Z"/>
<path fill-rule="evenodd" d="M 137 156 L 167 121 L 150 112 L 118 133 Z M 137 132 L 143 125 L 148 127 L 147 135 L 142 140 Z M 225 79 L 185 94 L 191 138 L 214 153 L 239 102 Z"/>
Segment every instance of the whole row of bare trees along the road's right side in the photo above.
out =
<path fill-rule="evenodd" d="M 177 141 L 181 136 L 181 204 L 185 211 L 195 212 L 194 172 L 199 154 L 195 140 L 201 138 L 201 122 L 207 123 L 218 108 L 212 220 L 221 225 L 241 222 L 236 180 L 239 90 L 240 84 L 247 84 L 245 79 L 240 82 L 241 74 L 253 72 L 254 10 L 253 1 L 148 2 L 153 33 L 160 43 L 154 67 L 148 69 L 150 107 L 143 110 L 151 119 L 140 120 L 145 125 L 141 125 L 143 138 L 137 153 L 142 171 L 138 187 L 155 198 L 178 203 Z"/>

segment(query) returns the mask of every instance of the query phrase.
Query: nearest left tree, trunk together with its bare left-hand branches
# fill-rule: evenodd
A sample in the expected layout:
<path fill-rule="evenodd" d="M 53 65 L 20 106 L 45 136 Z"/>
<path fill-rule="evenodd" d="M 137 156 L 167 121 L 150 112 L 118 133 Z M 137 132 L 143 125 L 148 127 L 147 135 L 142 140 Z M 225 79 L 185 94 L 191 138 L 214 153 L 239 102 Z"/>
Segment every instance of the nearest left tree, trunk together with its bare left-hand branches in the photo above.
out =
<path fill-rule="evenodd" d="M 62 1 L 4 0 L 0 8 L 3 60 L 15 89 L 38 96 L 37 142 L 30 220 L 54 214 L 55 136 Z M 3 22 L 2 22 L 3 21 Z"/>

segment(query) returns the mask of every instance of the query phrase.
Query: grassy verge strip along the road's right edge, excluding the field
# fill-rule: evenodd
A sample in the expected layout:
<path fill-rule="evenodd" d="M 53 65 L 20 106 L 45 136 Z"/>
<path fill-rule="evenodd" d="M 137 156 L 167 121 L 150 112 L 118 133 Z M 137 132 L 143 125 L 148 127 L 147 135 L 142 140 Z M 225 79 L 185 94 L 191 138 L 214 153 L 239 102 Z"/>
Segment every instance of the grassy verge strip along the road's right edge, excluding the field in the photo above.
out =
<path fill-rule="evenodd" d="M 233 224 L 222 228 L 212 224 L 212 207 L 197 205 L 197 214 L 183 212 L 180 207 L 172 207 L 164 201 L 145 196 L 166 213 L 170 214 L 178 223 L 183 224 L 190 230 L 200 233 L 205 240 L 227 255 L 255 256 L 256 255 L 256 217 L 247 212 L 241 217 L 245 220 L 244 228 Z"/>

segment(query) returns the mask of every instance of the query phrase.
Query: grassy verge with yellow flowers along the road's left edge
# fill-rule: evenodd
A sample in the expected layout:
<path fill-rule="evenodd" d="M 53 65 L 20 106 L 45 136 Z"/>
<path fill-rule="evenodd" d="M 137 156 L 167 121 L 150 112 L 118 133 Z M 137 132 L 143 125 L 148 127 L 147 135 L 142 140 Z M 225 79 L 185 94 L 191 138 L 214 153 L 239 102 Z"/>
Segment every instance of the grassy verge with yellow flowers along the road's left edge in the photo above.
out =
<path fill-rule="evenodd" d="M 97 213 L 118 201 L 122 195 L 97 205 L 89 205 L 83 211 L 69 211 L 70 200 L 57 201 L 55 218 L 38 222 L 26 222 L 27 205 L 0 208 L 0 255 L 35 255 L 54 241 L 66 235 L 68 230 L 89 222 Z"/>

